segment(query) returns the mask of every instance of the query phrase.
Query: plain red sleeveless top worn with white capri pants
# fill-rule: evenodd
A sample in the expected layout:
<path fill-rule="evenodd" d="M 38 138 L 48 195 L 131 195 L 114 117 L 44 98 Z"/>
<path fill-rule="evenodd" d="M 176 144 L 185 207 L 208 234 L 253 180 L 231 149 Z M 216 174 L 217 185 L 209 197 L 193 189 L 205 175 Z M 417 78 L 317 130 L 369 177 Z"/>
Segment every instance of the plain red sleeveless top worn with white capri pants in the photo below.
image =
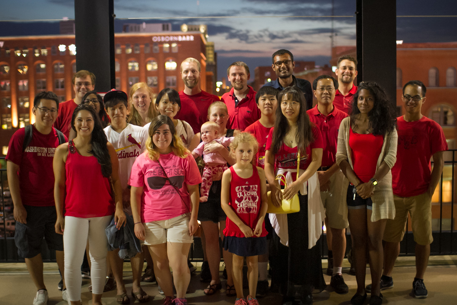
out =
<path fill-rule="evenodd" d="M 102 217 L 114 214 L 114 200 L 108 178 L 101 174 L 101 165 L 95 156 L 82 156 L 76 150 L 65 162 L 67 175 L 65 216 L 80 218 Z"/>

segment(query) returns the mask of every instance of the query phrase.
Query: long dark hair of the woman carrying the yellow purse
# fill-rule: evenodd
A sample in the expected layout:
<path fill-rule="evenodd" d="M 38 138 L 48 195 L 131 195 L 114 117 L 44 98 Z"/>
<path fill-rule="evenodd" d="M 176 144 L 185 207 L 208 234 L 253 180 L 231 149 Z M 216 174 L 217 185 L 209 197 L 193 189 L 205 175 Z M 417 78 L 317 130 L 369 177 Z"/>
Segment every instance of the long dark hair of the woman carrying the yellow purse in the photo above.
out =
<path fill-rule="evenodd" d="M 306 155 L 306 148 L 314 141 L 312 124 L 306 113 L 306 99 L 303 92 L 296 86 L 287 87 L 278 95 L 278 107 L 276 108 L 275 129 L 273 131 L 273 139 L 271 149 L 276 154 L 284 143 L 284 137 L 289 131 L 289 123 L 287 118 L 282 114 L 281 102 L 283 99 L 296 101 L 300 104 L 300 112 L 297 118 L 297 134 L 295 141 L 297 142 L 297 150 L 303 157 Z"/>

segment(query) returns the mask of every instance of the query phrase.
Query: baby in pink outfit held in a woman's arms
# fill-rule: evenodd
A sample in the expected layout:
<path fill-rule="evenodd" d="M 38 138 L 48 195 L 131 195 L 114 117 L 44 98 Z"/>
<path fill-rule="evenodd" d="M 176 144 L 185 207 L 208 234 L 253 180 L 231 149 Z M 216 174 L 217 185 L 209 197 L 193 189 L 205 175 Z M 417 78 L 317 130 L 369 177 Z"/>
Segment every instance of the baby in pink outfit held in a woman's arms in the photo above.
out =
<path fill-rule="evenodd" d="M 218 181 L 222 179 L 223 172 L 228 169 L 227 161 L 223 158 L 223 156 L 219 152 L 213 153 L 204 153 L 204 146 L 207 143 L 216 141 L 222 144 L 224 147 L 228 147 L 233 140 L 233 137 L 226 138 L 218 136 L 218 124 L 214 122 L 206 122 L 203 123 L 201 133 L 202 133 L 202 142 L 197 146 L 196 149 L 192 151 L 192 156 L 197 158 L 198 156 L 203 157 L 203 161 L 205 161 L 205 167 L 203 169 L 203 176 L 202 176 L 202 187 L 200 190 L 200 202 L 207 202 L 208 201 L 208 193 L 211 185 L 214 181 Z"/>

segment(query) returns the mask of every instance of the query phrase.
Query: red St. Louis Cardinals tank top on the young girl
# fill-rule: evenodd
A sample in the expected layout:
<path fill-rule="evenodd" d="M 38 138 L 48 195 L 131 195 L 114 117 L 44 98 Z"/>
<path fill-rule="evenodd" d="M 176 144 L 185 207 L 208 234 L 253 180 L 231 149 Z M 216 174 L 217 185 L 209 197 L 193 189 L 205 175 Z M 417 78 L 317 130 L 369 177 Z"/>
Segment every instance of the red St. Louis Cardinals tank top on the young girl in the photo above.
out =
<path fill-rule="evenodd" d="M 249 226 L 252 230 L 257 225 L 260 213 L 260 177 L 257 167 L 252 166 L 252 176 L 244 179 L 239 177 L 233 166 L 230 167 L 232 181 L 230 182 L 230 206 L 235 211 L 239 219 Z M 244 237 L 244 233 L 239 230 L 232 220 L 227 217 L 223 231 L 225 236 Z M 266 236 L 265 221 L 262 224 L 262 233 L 259 237 Z M 257 237 L 257 236 L 252 236 Z"/>

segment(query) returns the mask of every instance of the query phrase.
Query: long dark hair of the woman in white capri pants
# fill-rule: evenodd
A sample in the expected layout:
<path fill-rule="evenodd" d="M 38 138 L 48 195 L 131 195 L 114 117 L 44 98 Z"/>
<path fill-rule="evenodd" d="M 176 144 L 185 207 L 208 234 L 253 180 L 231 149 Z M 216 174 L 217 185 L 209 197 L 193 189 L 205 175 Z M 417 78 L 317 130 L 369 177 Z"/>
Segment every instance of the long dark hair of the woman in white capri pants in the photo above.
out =
<path fill-rule="evenodd" d="M 94 118 L 94 129 L 92 130 L 92 139 L 90 140 L 90 144 L 92 144 L 92 150 L 89 151 L 90 154 L 94 155 L 97 158 L 98 164 L 101 165 L 101 173 L 103 177 L 110 177 L 112 173 L 111 167 L 111 157 L 108 151 L 108 146 L 106 146 L 106 142 L 108 139 L 106 138 L 106 134 L 101 127 L 100 118 L 97 117 L 95 109 L 86 104 L 80 104 L 74 109 L 73 116 L 71 117 L 71 128 L 76 131 L 74 127 L 74 120 L 78 115 L 78 112 L 81 110 L 87 110 Z"/>

